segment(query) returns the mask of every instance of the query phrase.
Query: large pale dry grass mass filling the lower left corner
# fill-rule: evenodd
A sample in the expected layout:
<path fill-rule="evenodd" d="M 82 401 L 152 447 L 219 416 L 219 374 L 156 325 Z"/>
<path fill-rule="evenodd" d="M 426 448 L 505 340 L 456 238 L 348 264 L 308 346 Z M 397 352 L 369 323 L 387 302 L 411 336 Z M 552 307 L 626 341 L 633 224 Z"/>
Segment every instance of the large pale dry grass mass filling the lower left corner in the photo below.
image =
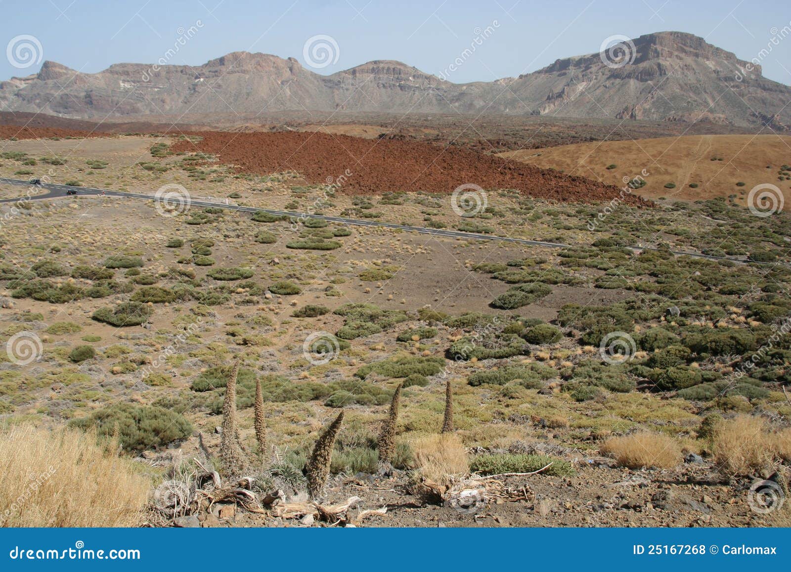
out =
<path fill-rule="evenodd" d="M 0 525 L 135 526 L 150 483 L 119 458 L 117 438 L 32 425 L 0 430 Z"/>

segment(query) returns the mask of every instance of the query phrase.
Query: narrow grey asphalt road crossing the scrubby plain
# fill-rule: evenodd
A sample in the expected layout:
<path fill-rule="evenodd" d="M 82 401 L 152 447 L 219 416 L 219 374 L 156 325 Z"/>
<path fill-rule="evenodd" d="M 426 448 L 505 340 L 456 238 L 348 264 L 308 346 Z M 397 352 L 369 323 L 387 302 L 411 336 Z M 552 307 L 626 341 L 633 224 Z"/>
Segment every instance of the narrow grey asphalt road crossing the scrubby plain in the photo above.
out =
<path fill-rule="evenodd" d="M 17 185 L 20 187 L 28 187 L 32 189 L 40 189 L 42 191 L 47 191 L 42 195 L 29 195 L 25 198 L 16 198 L 16 199 L 0 199 L 0 204 L 2 203 L 17 203 L 19 201 L 40 201 L 40 200 L 47 200 L 47 199 L 59 199 L 62 197 L 66 197 L 66 191 L 68 190 L 76 190 L 78 196 L 97 196 L 97 195 L 104 195 L 109 197 L 123 197 L 126 199 L 142 199 L 142 200 L 156 200 L 157 197 L 154 195 L 146 195 L 143 193 L 131 193 L 131 192 L 121 192 L 121 191 L 109 191 L 108 189 L 100 189 L 100 188 L 90 188 L 90 187 L 70 187 L 65 184 L 53 184 L 53 183 L 40 183 L 36 184 L 35 186 L 30 183 L 29 180 L 20 180 L 20 179 L 7 179 L 5 177 L 0 177 L 0 184 L 12 184 Z M 356 226 L 379 226 L 388 229 L 401 229 L 407 230 L 415 233 L 421 234 L 430 234 L 437 237 L 448 237 L 448 238 L 466 238 L 475 241 L 503 241 L 503 242 L 511 242 L 516 244 L 525 244 L 528 246 L 545 246 L 547 248 L 570 248 L 573 246 L 572 244 L 560 244 L 557 242 L 543 242 L 543 241 L 528 241 L 524 238 L 512 238 L 512 237 L 498 237 L 493 234 L 479 234 L 479 233 L 464 233 L 459 230 L 445 230 L 445 229 L 427 229 L 423 226 L 409 226 L 409 225 L 395 225 L 391 222 L 378 222 L 378 221 L 362 221 L 357 218 L 344 218 L 344 217 L 330 217 L 323 214 L 305 214 L 305 213 L 295 213 L 289 210 L 272 210 L 272 209 L 263 209 L 257 208 L 255 206 L 239 206 L 233 204 L 225 204 L 225 203 L 210 203 L 206 201 L 199 201 L 195 199 L 190 199 L 191 206 L 214 206 L 222 209 L 227 210 L 239 210 L 240 212 L 244 213 L 255 213 L 259 210 L 263 210 L 265 213 L 269 214 L 277 214 L 277 215 L 286 215 L 294 218 L 320 218 L 325 221 L 329 222 L 339 222 L 340 224 L 344 225 L 356 225 Z M 627 248 L 631 248 L 634 251 L 642 251 L 642 250 L 656 250 L 656 248 L 648 248 L 648 247 L 637 247 L 637 246 L 630 246 Z M 723 256 L 710 256 L 707 254 L 700 254 L 698 252 L 678 252 L 672 251 L 673 254 L 678 256 L 693 256 L 694 258 L 704 258 L 709 260 L 732 260 L 733 262 L 737 263 L 744 263 L 744 260 L 740 259 L 732 259 L 729 257 Z M 751 261 L 749 261 L 751 262 Z M 751 262 L 754 263 L 754 262 Z M 765 264 L 765 263 L 758 263 L 758 264 Z"/>

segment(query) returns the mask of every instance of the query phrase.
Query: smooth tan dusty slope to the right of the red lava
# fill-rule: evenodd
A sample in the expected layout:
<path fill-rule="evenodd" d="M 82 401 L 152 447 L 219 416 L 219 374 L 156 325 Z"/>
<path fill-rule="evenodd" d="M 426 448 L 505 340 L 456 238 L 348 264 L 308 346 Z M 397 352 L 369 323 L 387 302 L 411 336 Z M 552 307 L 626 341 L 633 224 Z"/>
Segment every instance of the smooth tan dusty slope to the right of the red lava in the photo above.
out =
<path fill-rule="evenodd" d="M 764 183 L 777 185 L 785 199 L 791 198 L 791 180 L 778 180 L 782 165 L 791 164 L 791 137 L 787 135 L 684 135 L 592 142 L 509 151 L 500 157 L 618 186 L 645 169 L 647 184 L 635 192 L 649 199 L 737 195 L 737 202 L 744 204 L 746 193 Z M 615 168 L 607 169 L 609 165 Z M 737 186 L 739 182 L 744 185 Z M 665 188 L 668 183 L 676 188 Z"/>

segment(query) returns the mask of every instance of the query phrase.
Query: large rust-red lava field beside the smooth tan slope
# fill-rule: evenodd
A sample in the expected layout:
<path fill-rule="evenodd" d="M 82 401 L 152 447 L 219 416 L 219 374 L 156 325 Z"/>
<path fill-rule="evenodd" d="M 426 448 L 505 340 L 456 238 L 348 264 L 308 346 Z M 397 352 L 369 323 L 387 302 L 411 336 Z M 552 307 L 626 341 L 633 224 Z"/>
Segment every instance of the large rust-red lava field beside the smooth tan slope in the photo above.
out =
<path fill-rule="evenodd" d="M 267 174 L 293 170 L 311 184 L 346 176 L 342 190 L 355 195 L 388 191 L 450 193 L 461 184 L 513 188 L 541 199 L 605 201 L 619 189 L 561 172 L 508 162 L 475 151 L 427 143 L 364 139 L 321 133 L 228 133 L 204 131 L 199 142 L 176 142 L 174 151 L 211 153 L 243 172 Z M 645 201 L 626 195 L 626 203 Z"/>

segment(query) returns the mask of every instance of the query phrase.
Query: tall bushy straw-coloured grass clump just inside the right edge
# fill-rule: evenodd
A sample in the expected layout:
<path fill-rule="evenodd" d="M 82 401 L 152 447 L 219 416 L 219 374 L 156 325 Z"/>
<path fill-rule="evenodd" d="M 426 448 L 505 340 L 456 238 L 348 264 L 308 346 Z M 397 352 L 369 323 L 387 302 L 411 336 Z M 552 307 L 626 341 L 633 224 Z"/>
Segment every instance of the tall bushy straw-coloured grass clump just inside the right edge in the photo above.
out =
<path fill-rule="evenodd" d="M 774 449 L 782 441 L 775 437 L 760 417 L 737 415 L 721 421 L 713 429 L 714 462 L 729 475 L 751 475 L 769 468 Z"/>

